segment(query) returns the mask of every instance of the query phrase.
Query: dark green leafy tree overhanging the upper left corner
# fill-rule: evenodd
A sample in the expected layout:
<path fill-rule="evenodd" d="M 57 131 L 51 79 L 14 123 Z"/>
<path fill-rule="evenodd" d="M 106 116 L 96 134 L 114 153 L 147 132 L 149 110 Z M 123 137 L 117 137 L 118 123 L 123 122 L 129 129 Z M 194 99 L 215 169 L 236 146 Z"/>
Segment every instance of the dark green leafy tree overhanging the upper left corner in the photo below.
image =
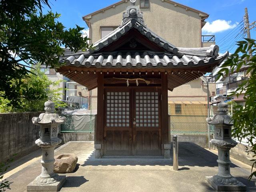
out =
<path fill-rule="evenodd" d="M 40 62 L 58 68 L 61 46 L 74 52 L 88 48 L 88 38 L 80 32 L 84 28 L 65 29 L 57 21 L 60 14 L 42 14 L 42 5 L 49 6 L 48 0 L 0 1 L 0 95 L 12 106 L 21 104 L 22 79 L 30 73 L 24 65 Z"/>

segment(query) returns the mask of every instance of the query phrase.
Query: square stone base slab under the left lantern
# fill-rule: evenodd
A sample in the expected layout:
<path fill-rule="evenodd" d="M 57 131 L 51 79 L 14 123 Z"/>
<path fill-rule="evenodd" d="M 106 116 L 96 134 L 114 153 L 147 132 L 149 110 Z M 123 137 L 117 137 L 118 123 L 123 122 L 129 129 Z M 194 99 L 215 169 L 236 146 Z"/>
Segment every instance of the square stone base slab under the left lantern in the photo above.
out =
<path fill-rule="evenodd" d="M 40 176 L 38 176 L 40 177 Z M 48 184 L 38 184 L 38 177 L 27 185 L 27 191 L 59 191 L 66 180 L 66 176 L 58 176 L 58 180 Z"/>

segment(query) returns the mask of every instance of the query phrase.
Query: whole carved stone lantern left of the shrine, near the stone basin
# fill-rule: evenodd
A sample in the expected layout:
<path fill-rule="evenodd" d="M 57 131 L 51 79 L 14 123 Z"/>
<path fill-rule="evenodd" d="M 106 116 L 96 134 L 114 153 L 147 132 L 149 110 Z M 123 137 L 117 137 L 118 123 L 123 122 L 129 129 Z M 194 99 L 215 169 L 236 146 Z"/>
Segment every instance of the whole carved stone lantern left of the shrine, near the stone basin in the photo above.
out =
<path fill-rule="evenodd" d="M 66 176 L 53 172 L 54 148 L 62 141 L 58 138 L 58 125 L 66 118 L 54 113 L 54 102 L 48 100 L 44 106 L 45 113 L 32 118 L 33 124 L 41 126 L 36 145 L 42 148 L 42 173 L 28 184 L 27 191 L 58 191 L 66 180 Z"/>

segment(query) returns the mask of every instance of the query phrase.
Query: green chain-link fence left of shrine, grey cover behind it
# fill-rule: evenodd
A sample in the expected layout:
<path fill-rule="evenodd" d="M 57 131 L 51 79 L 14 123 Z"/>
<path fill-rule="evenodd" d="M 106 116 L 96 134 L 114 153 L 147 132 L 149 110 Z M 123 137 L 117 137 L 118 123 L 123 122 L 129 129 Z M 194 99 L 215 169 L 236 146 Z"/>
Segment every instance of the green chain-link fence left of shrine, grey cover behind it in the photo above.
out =
<path fill-rule="evenodd" d="M 94 132 L 96 125 L 95 115 L 61 115 L 66 122 L 61 124 L 60 132 Z"/>

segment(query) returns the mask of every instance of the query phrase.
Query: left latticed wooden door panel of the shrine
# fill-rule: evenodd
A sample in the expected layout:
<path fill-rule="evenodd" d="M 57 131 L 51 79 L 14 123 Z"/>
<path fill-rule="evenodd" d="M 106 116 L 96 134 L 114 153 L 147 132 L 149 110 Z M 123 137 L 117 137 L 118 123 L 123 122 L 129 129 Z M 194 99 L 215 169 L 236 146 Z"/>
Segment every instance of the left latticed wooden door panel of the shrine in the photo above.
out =
<path fill-rule="evenodd" d="M 105 91 L 104 154 L 132 154 L 130 90 Z"/>

